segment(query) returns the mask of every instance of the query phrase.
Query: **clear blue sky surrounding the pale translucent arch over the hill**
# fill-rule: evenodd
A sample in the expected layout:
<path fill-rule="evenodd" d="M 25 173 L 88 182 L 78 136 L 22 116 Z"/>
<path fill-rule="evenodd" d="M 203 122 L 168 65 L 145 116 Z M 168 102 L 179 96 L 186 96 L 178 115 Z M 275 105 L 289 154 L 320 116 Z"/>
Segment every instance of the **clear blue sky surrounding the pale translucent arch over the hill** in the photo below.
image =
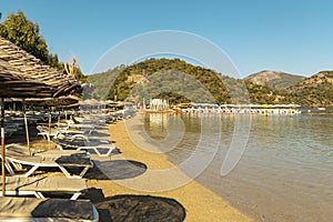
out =
<path fill-rule="evenodd" d="M 3 21 L 22 10 L 51 53 L 79 58 L 89 73 L 110 48 L 158 30 L 199 34 L 219 46 L 241 75 L 279 70 L 310 77 L 333 70 L 330 0 L 0 0 Z"/>

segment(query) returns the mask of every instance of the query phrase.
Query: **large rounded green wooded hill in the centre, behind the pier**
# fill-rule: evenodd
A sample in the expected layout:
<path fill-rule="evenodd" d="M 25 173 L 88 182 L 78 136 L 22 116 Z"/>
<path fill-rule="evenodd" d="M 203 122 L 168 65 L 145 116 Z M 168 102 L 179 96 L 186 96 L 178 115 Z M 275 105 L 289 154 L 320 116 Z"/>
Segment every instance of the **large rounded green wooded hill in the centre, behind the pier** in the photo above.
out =
<path fill-rule="evenodd" d="M 88 82 L 94 84 L 97 89 L 104 89 L 108 85 L 104 74 L 114 77 L 114 70 L 94 74 Z M 226 87 L 232 85 L 229 87 L 229 92 Z M 107 97 L 112 100 L 168 98 L 172 103 L 189 102 L 189 98 L 193 102 L 246 102 L 246 90 L 243 90 L 244 92 L 241 90 L 242 84 L 242 80 L 195 67 L 180 59 L 149 59 L 128 65 L 117 73 L 113 84 L 109 84 Z M 91 97 L 102 98 L 100 94 L 102 90 L 98 91 Z"/>

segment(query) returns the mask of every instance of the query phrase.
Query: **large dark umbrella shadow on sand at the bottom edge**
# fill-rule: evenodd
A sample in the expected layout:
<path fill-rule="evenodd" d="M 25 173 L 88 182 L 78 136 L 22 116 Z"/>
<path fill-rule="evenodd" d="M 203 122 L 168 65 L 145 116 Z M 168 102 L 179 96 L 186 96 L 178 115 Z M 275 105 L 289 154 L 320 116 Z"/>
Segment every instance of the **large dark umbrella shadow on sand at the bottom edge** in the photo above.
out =
<path fill-rule="evenodd" d="M 101 190 L 90 190 L 100 221 L 181 222 L 186 216 L 184 206 L 174 199 L 152 195 L 114 195 L 104 198 Z"/>

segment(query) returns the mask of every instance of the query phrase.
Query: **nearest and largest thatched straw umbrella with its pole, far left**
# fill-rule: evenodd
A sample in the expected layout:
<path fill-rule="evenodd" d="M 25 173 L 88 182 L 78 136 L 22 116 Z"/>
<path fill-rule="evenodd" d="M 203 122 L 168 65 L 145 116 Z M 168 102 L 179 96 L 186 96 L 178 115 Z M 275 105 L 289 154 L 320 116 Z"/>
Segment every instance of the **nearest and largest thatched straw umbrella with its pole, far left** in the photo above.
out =
<path fill-rule="evenodd" d="M 6 195 L 3 98 L 56 98 L 81 88 L 73 77 L 44 65 L 39 59 L 0 37 L 0 98 L 2 195 Z"/>

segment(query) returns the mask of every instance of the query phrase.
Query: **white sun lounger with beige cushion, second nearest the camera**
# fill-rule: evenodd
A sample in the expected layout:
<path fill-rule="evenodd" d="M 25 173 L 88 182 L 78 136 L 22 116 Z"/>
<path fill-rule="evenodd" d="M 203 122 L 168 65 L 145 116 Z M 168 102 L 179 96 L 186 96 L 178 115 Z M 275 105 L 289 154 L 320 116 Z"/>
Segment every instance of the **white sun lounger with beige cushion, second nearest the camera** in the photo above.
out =
<path fill-rule="evenodd" d="M 0 186 L 2 188 L 2 182 L 0 182 Z M 36 198 L 44 199 L 43 193 L 69 193 L 72 194 L 71 200 L 77 200 L 87 190 L 88 188 L 85 181 L 82 179 L 69 179 L 59 176 L 6 176 L 6 195 L 34 195 Z M 2 192 L 0 192 L 0 195 L 1 194 Z"/>

